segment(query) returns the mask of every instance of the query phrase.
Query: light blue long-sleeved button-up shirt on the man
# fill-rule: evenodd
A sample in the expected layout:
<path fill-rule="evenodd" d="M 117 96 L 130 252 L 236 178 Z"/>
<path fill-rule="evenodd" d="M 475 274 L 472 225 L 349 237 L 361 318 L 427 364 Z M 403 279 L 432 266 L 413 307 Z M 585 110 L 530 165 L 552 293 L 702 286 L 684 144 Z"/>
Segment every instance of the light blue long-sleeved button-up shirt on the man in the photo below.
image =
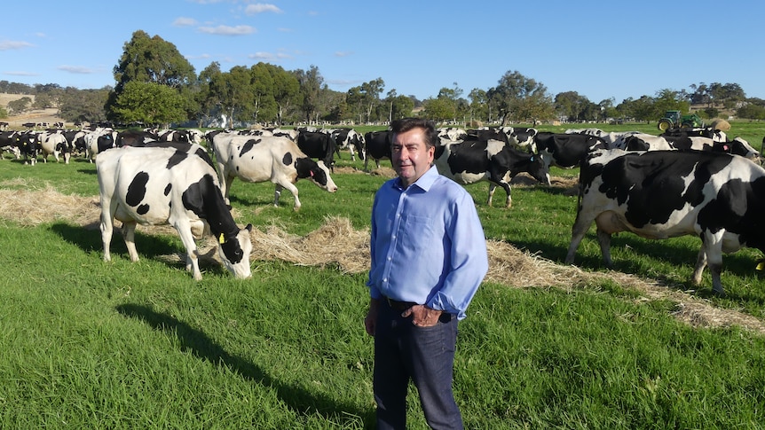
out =
<path fill-rule="evenodd" d="M 404 189 L 391 179 L 372 207 L 369 294 L 465 317 L 489 268 L 486 239 L 467 191 L 435 167 Z"/>

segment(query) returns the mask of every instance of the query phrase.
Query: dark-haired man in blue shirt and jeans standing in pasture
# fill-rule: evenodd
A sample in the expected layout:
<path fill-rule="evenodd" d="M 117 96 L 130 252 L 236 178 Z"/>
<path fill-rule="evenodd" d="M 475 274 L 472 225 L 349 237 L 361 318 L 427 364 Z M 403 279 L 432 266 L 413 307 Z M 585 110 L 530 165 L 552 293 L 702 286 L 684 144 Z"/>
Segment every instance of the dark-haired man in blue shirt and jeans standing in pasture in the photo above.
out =
<path fill-rule="evenodd" d="M 406 428 L 409 380 L 431 428 L 462 428 L 452 392 L 457 321 L 488 270 L 469 193 L 432 167 L 432 121 L 391 124 L 397 178 L 372 207 L 367 333 L 375 337 L 377 428 Z"/>

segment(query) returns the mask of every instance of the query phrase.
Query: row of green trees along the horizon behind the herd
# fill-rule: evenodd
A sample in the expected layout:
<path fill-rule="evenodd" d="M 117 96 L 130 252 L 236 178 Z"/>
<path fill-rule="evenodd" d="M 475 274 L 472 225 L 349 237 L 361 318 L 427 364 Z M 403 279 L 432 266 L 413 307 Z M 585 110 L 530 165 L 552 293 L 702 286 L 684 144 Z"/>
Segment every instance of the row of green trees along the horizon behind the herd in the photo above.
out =
<path fill-rule="evenodd" d="M 114 66 L 114 88 L 77 90 L 55 84 L 28 85 L 0 81 L 0 92 L 31 93 L 8 105 L 12 113 L 29 108 L 57 107 L 66 121 L 116 121 L 152 125 L 294 124 L 321 121 L 370 123 L 410 116 L 415 107 L 437 121 L 500 123 L 538 121 L 656 121 L 664 111 L 689 112 L 704 106 L 701 116 L 718 116 L 720 109 L 736 111 L 739 118 L 765 120 L 765 100 L 746 98 L 736 83 L 691 84 L 689 90 L 659 90 L 654 97 L 613 98 L 594 103 L 576 91 L 558 93 L 517 71 L 501 76 L 488 90 L 473 89 L 463 97 L 457 82 L 438 96 L 417 100 L 384 94 L 385 82 L 377 78 L 346 92 L 329 90 L 319 68 L 288 71 L 257 63 L 233 66 L 229 71 L 211 63 L 200 74 L 174 44 L 158 35 L 136 31 L 123 47 Z M 3 112 L 0 112 L 0 116 Z M 220 119 L 225 123 L 220 123 Z"/>

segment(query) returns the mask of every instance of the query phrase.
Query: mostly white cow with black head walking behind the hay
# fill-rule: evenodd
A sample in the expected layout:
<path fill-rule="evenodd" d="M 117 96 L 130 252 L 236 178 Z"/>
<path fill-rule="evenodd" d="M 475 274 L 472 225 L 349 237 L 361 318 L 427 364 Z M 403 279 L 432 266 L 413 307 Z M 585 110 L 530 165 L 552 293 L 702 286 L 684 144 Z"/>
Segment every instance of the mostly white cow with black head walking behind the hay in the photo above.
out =
<path fill-rule="evenodd" d="M 308 179 L 327 192 L 336 192 L 337 185 L 329 176 L 323 161 L 315 161 L 305 155 L 288 137 L 231 136 L 218 134 L 213 137 L 213 151 L 217 172 L 225 201 L 235 177 L 242 181 L 258 183 L 271 181 L 276 184 L 273 206 L 279 207 L 282 189 L 288 189 L 295 197 L 295 210 L 300 209 L 297 198 L 298 179 Z"/>

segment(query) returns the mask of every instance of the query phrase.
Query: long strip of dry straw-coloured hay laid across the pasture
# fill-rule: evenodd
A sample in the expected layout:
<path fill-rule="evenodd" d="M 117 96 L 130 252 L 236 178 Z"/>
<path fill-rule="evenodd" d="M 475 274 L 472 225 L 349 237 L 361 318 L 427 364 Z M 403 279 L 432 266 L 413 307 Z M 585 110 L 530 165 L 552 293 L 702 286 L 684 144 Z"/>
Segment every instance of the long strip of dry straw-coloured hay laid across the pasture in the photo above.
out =
<path fill-rule="evenodd" d="M 23 183 L 0 184 L 19 186 Z M 42 223 L 65 221 L 98 231 L 99 198 L 65 195 L 50 184 L 31 190 L 0 189 L 0 219 L 35 226 Z M 234 219 L 239 217 L 233 210 Z M 141 226 L 145 234 L 176 234 L 170 226 Z M 252 260 L 280 260 L 296 265 L 332 266 L 344 273 L 363 273 L 369 267 L 369 231 L 356 230 L 350 220 L 327 216 L 319 229 L 306 236 L 289 234 L 276 224 L 253 229 Z M 320 243 L 322 246 L 313 246 Z M 200 249 L 202 266 L 218 264 L 216 243 L 207 238 Z M 489 272 L 486 280 L 509 287 L 575 289 L 581 285 L 609 278 L 613 282 L 641 293 L 640 301 L 670 300 L 676 303 L 674 317 L 695 327 L 726 327 L 738 325 L 753 332 L 765 333 L 765 324 L 750 315 L 733 309 L 718 309 L 710 302 L 689 293 L 668 288 L 624 273 L 588 272 L 574 266 L 550 262 L 539 255 L 530 254 L 506 242 L 487 240 Z M 181 252 L 161 257 L 168 262 L 185 259 Z"/>

